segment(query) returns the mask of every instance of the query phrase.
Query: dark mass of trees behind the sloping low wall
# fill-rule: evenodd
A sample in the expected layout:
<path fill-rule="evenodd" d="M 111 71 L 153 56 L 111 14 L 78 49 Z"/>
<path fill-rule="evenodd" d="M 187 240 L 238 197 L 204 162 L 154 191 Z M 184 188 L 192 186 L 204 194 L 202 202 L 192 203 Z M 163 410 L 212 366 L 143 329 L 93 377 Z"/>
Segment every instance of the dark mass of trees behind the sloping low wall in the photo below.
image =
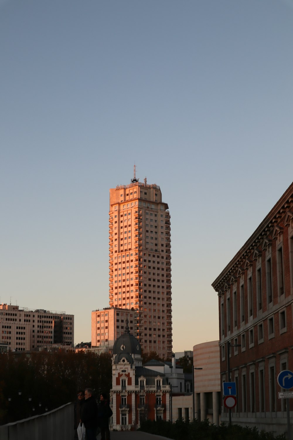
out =
<path fill-rule="evenodd" d="M 0 356 L 0 424 L 50 411 L 76 399 L 86 387 L 109 394 L 112 361 L 109 353 L 32 352 Z M 18 390 L 22 391 L 21 396 Z M 11 396 L 11 402 L 8 401 Z M 29 396 L 32 398 L 29 402 Z M 41 407 L 39 406 L 41 403 Z"/>

